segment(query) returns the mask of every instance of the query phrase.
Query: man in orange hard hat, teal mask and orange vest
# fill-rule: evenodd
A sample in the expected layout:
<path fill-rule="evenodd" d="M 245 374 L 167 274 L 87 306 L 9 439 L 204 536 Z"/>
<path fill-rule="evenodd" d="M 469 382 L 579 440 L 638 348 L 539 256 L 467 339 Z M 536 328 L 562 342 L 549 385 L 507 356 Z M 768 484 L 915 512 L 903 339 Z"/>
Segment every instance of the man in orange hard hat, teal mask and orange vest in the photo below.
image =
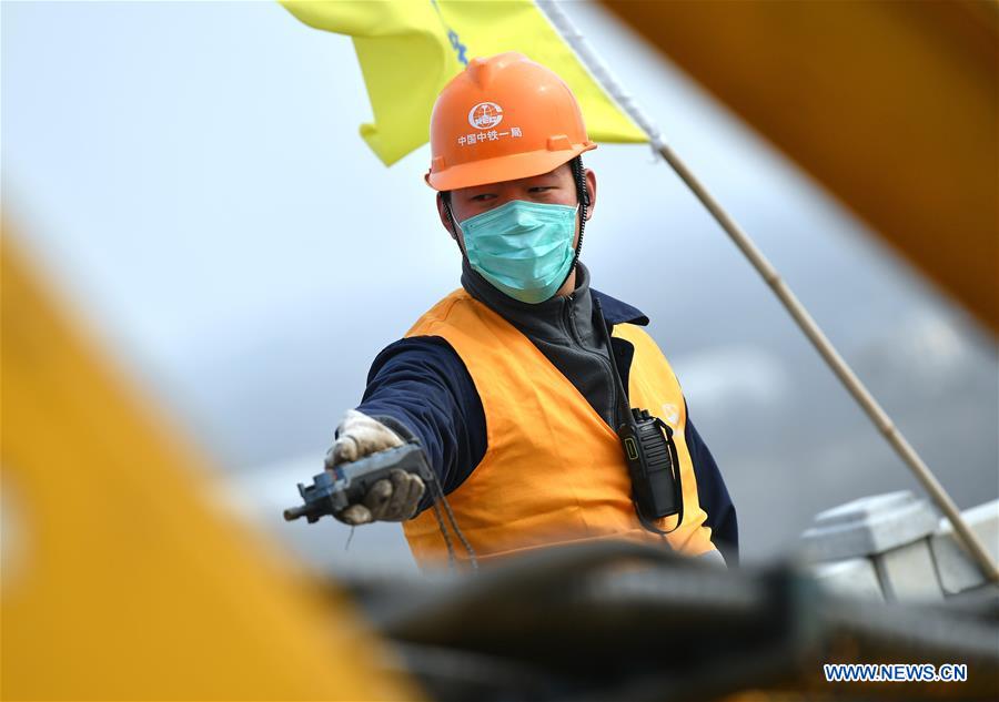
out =
<path fill-rule="evenodd" d="M 326 466 L 418 441 L 480 561 L 619 538 L 731 564 L 735 508 L 648 318 L 594 289 L 579 261 L 597 202 L 581 154 L 595 147 L 568 87 L 522 54 L 473 59 L 443 89 L 425 180 L 462 287 L 375 358 Z M 622 400 L 668 427 L 682 515 L 636 511 Z M 427 488 L 393 471 L 337 518 L 402 521 L 417 562 L 434 564 L 448 545 Z"/>

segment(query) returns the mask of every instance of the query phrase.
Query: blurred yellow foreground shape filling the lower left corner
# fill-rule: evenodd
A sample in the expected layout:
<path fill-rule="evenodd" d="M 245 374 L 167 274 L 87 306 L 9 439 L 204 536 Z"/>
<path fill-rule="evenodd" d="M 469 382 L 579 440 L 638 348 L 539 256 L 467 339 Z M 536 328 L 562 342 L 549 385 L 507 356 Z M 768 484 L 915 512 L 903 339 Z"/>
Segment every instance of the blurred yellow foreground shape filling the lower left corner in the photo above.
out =
<path fill-rule="evenodd" d="M 199 499 L 204 461 L 2 235 L 0 696 L 414 699 L 346 600 Z"/>

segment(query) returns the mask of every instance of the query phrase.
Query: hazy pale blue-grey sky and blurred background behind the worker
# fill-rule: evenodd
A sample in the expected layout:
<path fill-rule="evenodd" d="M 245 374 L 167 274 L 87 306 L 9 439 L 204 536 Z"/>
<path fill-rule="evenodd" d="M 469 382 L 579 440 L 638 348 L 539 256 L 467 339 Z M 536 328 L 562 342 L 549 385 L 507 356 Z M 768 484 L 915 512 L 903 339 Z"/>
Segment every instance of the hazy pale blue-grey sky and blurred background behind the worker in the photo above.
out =
<path fill-rule="evenodd" d="M 628 30 L 588 3 L 565 10 L 958 505 L 996 498 L 993 342 Z M 2 4 L 4 216 L 215 459 L 220 506 L 323 568 L 411 563 L 397 526 L 357 529 L 345 550 L 346 527 L 284 525 L 280 509 L 321 470 L 375 354 L 460 269 L 423 184 L 428 149 L 385 169 L 357 134 L 370 119 L 350 39 L 276 3 Z M 599 183 L 584 250 L 594 285 L 652 318 L 746 559 L 787 549 L 821 509 L 918 491 L 647 146 L 602 145 L 586 164 Z"/>

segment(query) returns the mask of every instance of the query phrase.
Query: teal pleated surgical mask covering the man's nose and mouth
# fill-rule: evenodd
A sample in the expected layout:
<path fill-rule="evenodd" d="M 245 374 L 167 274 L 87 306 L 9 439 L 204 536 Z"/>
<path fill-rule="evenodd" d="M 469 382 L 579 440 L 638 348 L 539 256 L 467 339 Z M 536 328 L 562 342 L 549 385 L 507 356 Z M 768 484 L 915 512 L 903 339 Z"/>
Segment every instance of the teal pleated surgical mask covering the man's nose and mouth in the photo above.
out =
<path fill-rule="evenodd" d="M 458 225 L 468 263 L 511 297 L 544 302 L 573 267 L 578 208 L 513 200 L 468 217 Z"/>

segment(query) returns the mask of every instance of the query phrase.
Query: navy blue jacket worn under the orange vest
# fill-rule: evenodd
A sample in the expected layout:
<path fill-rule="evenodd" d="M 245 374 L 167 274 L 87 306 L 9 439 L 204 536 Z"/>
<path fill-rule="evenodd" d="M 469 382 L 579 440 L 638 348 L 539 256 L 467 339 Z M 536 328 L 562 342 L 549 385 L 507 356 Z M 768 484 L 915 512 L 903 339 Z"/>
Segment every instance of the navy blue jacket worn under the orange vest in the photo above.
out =
<path fill-rule="evenodd" d="M 609 325 L 648 324 L 648 317 L 635 307 L 595 289 L 593 294 L 599 297 Z M 630 354 L 618 359 L 625 387 L 630 362 Z M 485 413 L 478 391 L 461 357 L 440 336 L 405 338 L 382 350 L 371 366 L 357 410 L 377 418 L 407 440 L 417 439 L 445 494 L 457 489 L 485 456 Z M 735 506 L 689 411 L 685 438 L 712 541 L 731 567 L 738 562 L 739 543 Z M 421 510 L 430 507 L 428 492 Z"/>

